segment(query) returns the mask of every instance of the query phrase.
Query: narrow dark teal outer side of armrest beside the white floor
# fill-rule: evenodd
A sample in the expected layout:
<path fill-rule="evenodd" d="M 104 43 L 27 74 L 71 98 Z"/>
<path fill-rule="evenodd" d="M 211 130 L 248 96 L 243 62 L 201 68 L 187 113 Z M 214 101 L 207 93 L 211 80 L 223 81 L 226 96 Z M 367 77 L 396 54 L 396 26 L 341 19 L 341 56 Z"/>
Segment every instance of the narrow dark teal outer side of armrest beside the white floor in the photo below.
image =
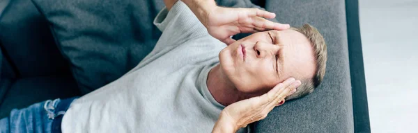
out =
<path fill-rule="evenodd" d="M 353 94 L 354 131 L 371 132 L 369 107 L 367 105 L 366 80 L 362 53 L 362 38 L 359 26 L 359 3 L 346 1 L 348 55 Z"/>

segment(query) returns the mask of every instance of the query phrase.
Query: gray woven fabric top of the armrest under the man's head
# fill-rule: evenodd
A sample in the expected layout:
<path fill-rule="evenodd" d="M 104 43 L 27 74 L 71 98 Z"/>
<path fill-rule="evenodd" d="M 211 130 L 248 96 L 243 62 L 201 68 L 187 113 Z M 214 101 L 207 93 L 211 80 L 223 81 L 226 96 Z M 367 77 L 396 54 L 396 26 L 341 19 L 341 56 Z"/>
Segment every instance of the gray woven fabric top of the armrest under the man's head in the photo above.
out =
<path fill-rule="evenodd" d="M 327 42 L 327 71 L 313 94 L 276 107 L 256 132 L 354 132 L 344 1 L 275 1 L 265 8 L 291 26 L 309 23 Z"/>

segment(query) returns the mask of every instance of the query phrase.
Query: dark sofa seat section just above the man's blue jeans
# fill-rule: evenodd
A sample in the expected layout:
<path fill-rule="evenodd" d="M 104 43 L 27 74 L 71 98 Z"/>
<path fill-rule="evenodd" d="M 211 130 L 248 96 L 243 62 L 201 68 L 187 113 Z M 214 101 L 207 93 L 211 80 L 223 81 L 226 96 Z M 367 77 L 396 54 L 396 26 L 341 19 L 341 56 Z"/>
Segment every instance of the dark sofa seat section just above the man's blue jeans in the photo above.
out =
<path fill-rule="evenodd" d="M 70 75 L 21 78 L 13 82 L 3 99 L 0 118 L 8 116 L 11 109 L 21 109 L 43 100 L 80 96 L 77 90 L 77 84 Z"/>

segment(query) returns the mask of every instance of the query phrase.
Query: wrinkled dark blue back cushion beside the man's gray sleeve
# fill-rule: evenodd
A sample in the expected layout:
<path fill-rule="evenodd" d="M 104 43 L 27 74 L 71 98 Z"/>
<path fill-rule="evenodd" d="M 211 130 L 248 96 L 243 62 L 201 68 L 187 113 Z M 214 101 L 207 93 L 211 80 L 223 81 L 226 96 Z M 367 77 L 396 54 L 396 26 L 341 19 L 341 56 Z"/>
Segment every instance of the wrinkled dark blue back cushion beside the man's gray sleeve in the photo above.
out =
<path fill-rule="evenodd" d="M 33 0 L 84 94 L 116 80 L 155 46 L 163 1 Z"/>

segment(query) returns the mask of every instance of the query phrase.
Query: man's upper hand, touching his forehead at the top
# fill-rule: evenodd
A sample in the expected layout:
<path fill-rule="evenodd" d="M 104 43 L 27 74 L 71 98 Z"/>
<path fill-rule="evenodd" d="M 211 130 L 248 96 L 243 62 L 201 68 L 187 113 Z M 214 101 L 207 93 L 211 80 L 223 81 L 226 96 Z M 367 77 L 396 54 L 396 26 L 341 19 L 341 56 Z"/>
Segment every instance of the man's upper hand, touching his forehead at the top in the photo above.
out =
<path fill-rule="evenodd" d="M 290 28 L 288 24 L 279 24 L 268 20 L 274 17 L 276 17 L 274 13 L 258 8 L 224 8 L 219 6 L 209 10 L 206 16 L 198 16 L 201 23 L 208 28 L 208 33 L 226 45 L 235 42 L 231 36 L 238 33 Z"/>

